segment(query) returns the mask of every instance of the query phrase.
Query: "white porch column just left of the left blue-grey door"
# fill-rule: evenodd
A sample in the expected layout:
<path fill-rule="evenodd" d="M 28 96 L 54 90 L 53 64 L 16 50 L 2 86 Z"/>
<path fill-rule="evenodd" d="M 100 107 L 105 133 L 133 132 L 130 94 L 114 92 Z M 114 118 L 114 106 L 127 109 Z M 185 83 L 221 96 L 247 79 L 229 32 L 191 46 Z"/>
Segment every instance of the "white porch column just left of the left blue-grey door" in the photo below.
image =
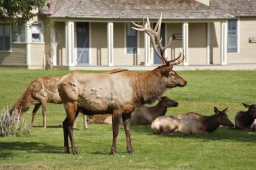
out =
<path fill-rule="evenodd" d="M 67 21 L 66 22 L 66 62 L 68 66 L 74 66 L 75 65 L 75 52 L 74 52 L 74 37 L 75 37 L 75 26 L 74 22 Z"/>

